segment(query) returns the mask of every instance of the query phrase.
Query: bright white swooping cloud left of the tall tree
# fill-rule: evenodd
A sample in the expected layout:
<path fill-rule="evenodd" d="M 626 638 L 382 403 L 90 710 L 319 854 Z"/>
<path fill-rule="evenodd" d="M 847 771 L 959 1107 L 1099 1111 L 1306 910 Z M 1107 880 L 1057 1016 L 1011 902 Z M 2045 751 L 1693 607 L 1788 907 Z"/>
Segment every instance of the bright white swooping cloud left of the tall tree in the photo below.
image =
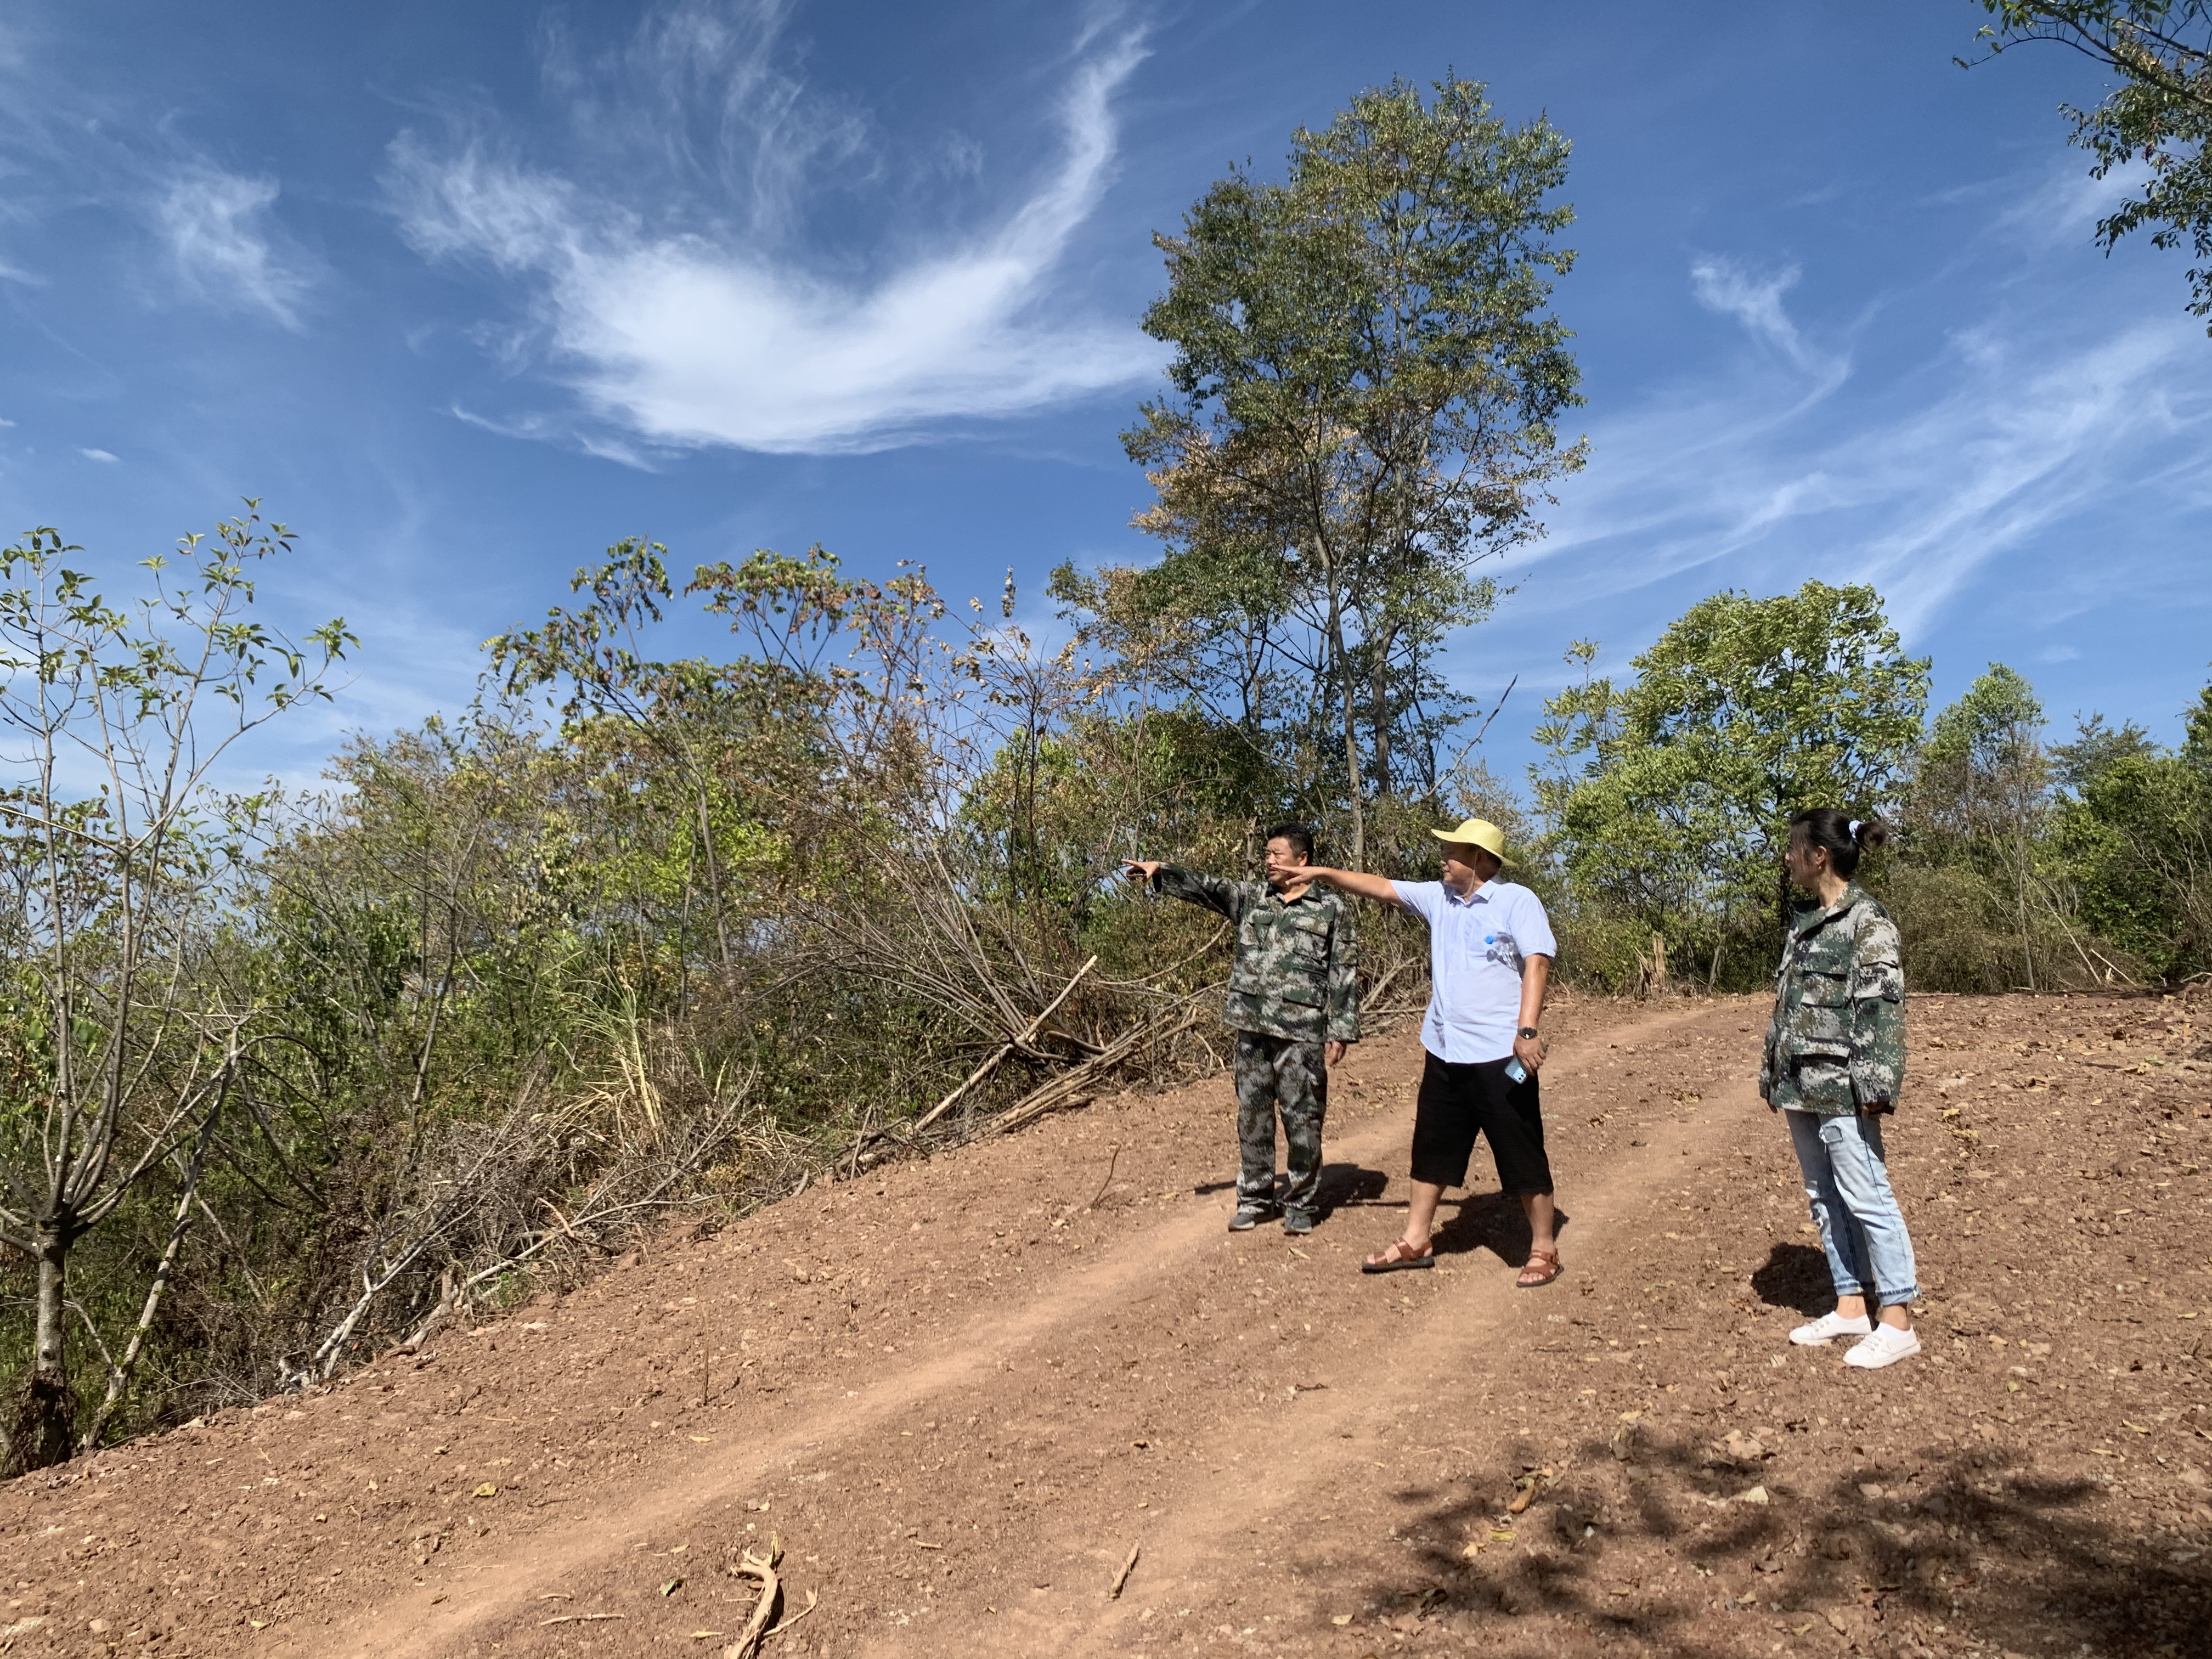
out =
<path fill-rule="evenodd" d="M 1113 95 L 1144 58 L 1135 31 L 1099 38 L 1077 60 L 1057 108 L 1062 155 L 1026 199 L 854 281 L 794 252 L 779 228 L 807 166 L 852 159 L 860 117 L 810 115 L 761 66 L 779 9 L 734 13 L 752 20 L 741 38 L 728 15 L 666 13 L 635 51 L 664 62 L 672 40 L 721 29 L 703 55 L 726 64 L 726 86 L 692 86 L 690 97 L 723 113 L 732 86 L 765 97 L 774 119 L 763 133 L 754 117 L 750 148 L 728 139 L 721 117 L 719 148 L 688 128 L 664 146 L 670 166 L 745 177 L 741 228 L 699 210 L 648 221 L 630 206 L 635 190 L 535 170 L 482 133 L 445 153 L 411 135 L 392 148 L 409 241 L 431 259 L 529 281 L 535 332 L 591 414 L 664 447 L 856 451 L 1157 372 L 1159 352 L 1126 323 L 1066 321 L 1046 303 L 1113 177 Z"/>

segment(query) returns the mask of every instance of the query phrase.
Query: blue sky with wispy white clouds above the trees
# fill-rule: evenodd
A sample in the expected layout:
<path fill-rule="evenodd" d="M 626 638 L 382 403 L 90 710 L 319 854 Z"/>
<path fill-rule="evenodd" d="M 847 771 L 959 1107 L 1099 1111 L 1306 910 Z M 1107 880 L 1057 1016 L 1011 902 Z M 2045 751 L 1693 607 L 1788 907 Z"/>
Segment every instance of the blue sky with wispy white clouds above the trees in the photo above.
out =
<path fill-rule="evenodd" d="M 1590 467 L 1453 648 L 1511 776 L 1559 653 L 1871 580 L 1938 695 L 2172 737 L 2205 681 L 2208 367 L 2106 259 L 2095 69 L 1971 73 L 1966 0 L 148 7 L 0 22 L 0 522 L 124 571 L 246 493 L 363 637 L 261 759 L 467 701 L 622 535 L 823 542 L 953 597 L 1144 557 L 1115 434 L 1148 243 L 1358 86 L 1447 66 L 1573 139 Z M 708 646 L 701 630 L 697 644 Z"/>

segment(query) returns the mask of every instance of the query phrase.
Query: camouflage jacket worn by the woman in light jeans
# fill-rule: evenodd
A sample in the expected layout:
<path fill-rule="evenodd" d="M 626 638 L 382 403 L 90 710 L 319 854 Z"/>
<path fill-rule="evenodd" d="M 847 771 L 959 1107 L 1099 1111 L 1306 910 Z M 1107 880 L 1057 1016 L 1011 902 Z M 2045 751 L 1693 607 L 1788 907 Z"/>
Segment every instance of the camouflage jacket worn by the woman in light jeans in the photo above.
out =
<path fill-rule="evenodd" d="M 1790 925 L 1759 1066 L 1770 1106 L 1845 1117 L 1905 1091 L 1905 958 L 1898 925 L 1860 887 Z"/>

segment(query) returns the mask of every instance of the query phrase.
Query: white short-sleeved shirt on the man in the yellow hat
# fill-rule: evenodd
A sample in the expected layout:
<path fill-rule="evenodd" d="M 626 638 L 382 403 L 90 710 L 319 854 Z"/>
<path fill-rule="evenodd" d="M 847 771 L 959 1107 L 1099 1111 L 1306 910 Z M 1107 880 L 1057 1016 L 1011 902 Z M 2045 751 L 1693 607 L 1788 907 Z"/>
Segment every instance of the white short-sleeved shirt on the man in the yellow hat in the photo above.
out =
<path fill-rule="evenodd" d="M 1391 889 L 1429 925 L 1422 1048 L 1453 1066 L 1511 1055 L 1522 962 L 1559 953 L 1544 900 L 1511 880 L 1486 880 L 1467 898 L 1440 880 L 1394 880 Z"/>

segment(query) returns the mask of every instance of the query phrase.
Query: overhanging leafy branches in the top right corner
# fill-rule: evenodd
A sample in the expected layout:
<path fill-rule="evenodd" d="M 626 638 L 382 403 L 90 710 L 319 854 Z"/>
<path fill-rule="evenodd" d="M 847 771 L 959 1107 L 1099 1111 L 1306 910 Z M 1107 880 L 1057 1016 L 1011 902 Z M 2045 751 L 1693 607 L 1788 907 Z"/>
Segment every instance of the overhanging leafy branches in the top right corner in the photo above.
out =
<path fill-rule="evenodd" d="M 2157 248 L 2188 243 L 2190 312 L 2212 316 L 2212 4 L 2208 0 L 1980 0 L 1991 55 L 2013 46 L 2073 46 L 2119 75 L 2101 104 L 2062 106 L 2090 177 L 2141 161 L 2143 186 L 2097 221 L 2110 252 L 2150 226 Z M 1964 62 L 1964 60 L 1962 60 Z M 2208 323 L 2212 332 L 2212 323 Z"/>

